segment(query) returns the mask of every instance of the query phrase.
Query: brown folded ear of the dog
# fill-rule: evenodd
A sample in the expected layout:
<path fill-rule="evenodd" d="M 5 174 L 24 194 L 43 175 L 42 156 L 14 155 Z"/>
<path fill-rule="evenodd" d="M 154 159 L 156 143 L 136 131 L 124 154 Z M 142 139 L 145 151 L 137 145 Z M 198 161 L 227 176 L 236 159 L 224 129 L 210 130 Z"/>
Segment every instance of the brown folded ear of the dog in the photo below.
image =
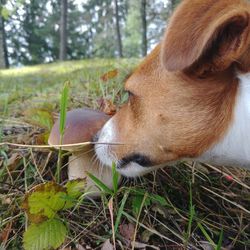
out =
<path fill-rule="evenodd" d="M 184 0 L 167 27 L 162 62 L 168 71 L 224 70 L 249 47 L 249 26 L 250 5 L 242 0 Z"/>

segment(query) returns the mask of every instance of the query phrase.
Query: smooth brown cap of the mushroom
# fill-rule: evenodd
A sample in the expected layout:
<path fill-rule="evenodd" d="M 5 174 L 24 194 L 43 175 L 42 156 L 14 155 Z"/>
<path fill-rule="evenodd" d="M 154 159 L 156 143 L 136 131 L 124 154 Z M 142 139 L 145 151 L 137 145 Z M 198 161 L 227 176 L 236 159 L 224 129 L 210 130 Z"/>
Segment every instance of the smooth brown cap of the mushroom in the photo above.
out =
<path fill-rule="evenodd" d="M 67 112 L 62 144 L 91 142 L 95 134 L 110 118 L 109 115 L 92 109 L 74 109 Z M 48 139 L 49 145 L 60 145 L 60 119 L 58 119 Z M 75 147 L 62 147 L 64 150 L 74 151 Z"/>

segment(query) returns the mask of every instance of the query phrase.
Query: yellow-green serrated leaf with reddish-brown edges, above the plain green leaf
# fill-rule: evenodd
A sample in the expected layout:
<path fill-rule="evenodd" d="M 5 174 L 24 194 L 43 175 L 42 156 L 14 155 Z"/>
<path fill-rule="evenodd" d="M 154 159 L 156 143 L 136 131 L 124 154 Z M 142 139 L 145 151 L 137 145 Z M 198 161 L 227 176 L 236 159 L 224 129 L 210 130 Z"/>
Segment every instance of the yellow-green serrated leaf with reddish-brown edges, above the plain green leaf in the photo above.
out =
<path fill-rule="evenodd" d="M 48 182 L 39 185 L 26 195 L 23 208 L 26 210 L 29 220 L 36 223 L 36 216 L 40 219 L 55 217 L 57 211 L 64 208 L 66 196 L 64 187 L 54 182 Z"/>

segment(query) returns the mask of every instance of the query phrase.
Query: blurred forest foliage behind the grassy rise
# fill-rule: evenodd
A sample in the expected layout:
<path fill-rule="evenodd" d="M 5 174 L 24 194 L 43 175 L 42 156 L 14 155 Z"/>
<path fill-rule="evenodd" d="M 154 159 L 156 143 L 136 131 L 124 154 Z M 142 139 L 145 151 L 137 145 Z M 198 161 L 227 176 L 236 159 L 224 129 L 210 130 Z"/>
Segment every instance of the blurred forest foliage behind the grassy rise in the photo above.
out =
<path fill-rule="evenodd" d="M 67 36 L 60 38 L 62 2 L 1 0 L 2 68 L 9 63 L 16 66 L 56 61 L 60 39 L 66 39 L 66 59 L 144 56 L 143 45 L 150 51 L 160 40 L 179 0 L 68 0 Z M 117 21 L 122 53 L 118 51 Z M 1 54 L 1 50 L 5 51 Z"/>

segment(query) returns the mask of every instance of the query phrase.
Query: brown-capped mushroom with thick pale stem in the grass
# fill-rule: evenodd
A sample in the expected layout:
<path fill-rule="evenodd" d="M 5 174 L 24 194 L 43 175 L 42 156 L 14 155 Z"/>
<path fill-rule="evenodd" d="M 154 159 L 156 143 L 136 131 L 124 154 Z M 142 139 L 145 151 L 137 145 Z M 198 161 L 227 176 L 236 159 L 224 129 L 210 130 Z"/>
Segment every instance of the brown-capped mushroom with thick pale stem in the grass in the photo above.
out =
<path fill-rule="evenodd" d="M 83 143 L 80 147 L 61 147 L 63 150 L 72 153 L 68 163 L 68 178 L 69 180 L 86 178 L 86 190 L 89 192 L 89 197 L 100 196 L 100 190 L 87 176 L 86 172 L 93 174 L 109 188 L 112 189 L 113 187 L 112 170 L 110 167 L 101 165 L 96 159 L 91 143 L 95 134 L 109 118 L 110 116 L 105 113 L 91 109 L 75 109 L 67 112 L 62 145 Z M 58 119 L 49 136 L 48 143 L 51 146 L 59 147 L 58 145 L 60 145 L 59 125 L 60 120 Z"/>

